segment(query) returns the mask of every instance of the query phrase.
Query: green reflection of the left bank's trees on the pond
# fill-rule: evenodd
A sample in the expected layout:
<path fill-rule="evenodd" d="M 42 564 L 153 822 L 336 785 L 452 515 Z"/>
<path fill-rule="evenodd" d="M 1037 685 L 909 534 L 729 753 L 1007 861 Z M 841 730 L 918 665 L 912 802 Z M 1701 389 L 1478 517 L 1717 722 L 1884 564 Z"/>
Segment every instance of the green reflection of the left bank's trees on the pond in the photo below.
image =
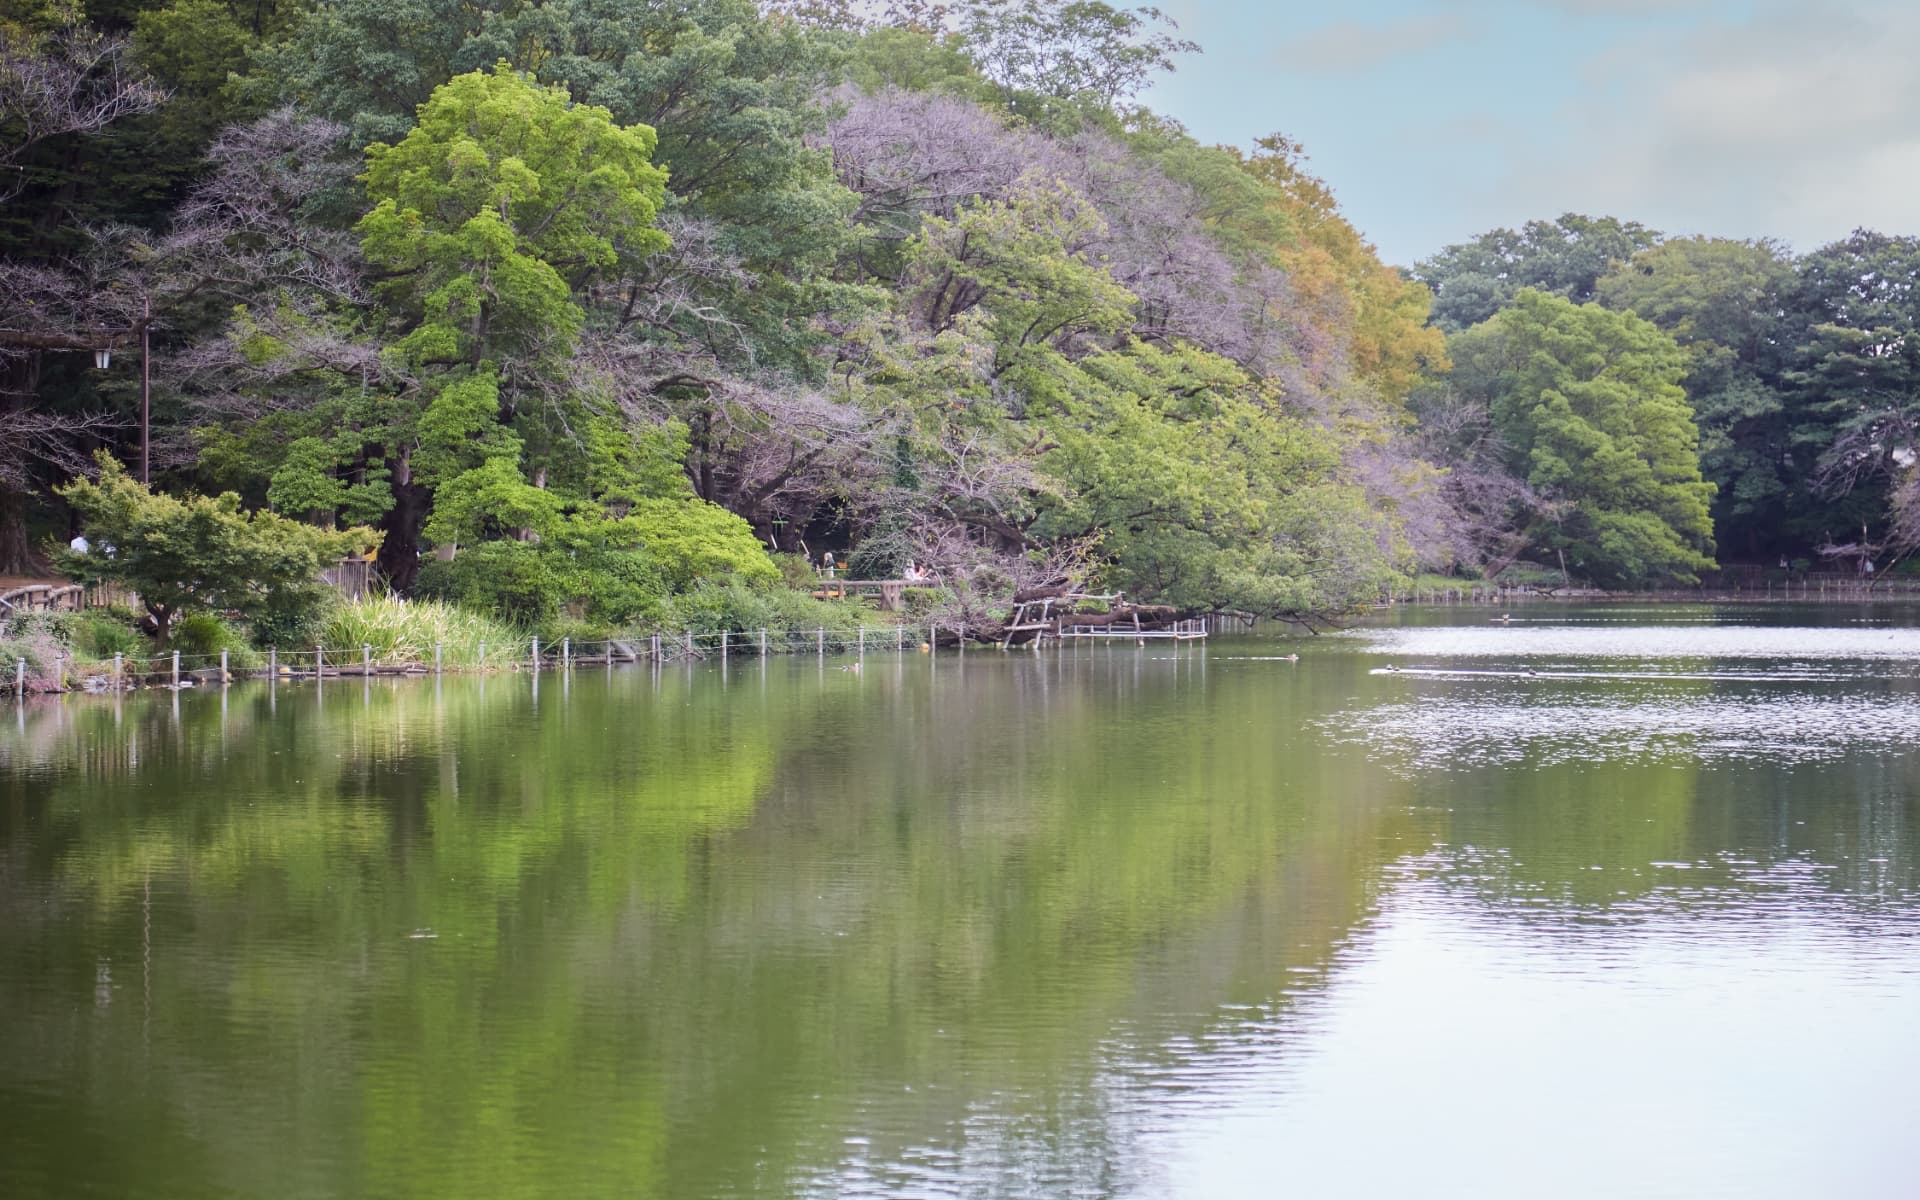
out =
<path fill-rule="evenodd" d="M 60 916 L 6 943 L 8 1058 L 96 1062 L 236 1190 L 778 1192 L 1020 1114 L 1110 1162 L 1102 1041 L 1321 960 L 1392 818 L 1179 670 L 960 670 L 35 712 L 8 891 Z M 63 1027 L 148 929 L 142 1012 Z"/>

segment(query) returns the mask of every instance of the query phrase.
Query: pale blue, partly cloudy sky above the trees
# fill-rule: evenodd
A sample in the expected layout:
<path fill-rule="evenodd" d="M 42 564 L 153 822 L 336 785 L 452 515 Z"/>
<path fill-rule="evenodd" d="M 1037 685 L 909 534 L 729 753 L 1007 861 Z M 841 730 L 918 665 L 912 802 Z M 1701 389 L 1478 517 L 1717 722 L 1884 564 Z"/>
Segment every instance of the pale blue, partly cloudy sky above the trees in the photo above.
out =
<path fill-rule="evenodd" d="M 1567 211 L 1814 250 L 1920 234 L 1920 0 L 1160 0 L 1142 100 L 1284 132 L 1390 263 Z"/>

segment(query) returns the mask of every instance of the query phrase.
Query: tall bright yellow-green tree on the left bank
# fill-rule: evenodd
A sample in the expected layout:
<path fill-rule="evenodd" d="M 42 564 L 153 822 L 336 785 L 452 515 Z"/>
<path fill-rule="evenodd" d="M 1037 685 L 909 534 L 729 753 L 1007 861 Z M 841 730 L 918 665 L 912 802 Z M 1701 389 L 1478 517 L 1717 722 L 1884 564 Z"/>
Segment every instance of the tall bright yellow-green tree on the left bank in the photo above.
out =
<path fill-rule="evenodd" d="M 666 244 L 653 146 L 651 129 L 501 63 L 438 88 L 397 144 L 367 148 L 361 248 L 420 394 L 401 486 L 459 488 L 467 472 L 495 492 L 584 482 L 578 428 L 611 417 L 570 371 L 580 296 Z M 413 551 L 422 518 L 397 509 L 394 557 Z"/>

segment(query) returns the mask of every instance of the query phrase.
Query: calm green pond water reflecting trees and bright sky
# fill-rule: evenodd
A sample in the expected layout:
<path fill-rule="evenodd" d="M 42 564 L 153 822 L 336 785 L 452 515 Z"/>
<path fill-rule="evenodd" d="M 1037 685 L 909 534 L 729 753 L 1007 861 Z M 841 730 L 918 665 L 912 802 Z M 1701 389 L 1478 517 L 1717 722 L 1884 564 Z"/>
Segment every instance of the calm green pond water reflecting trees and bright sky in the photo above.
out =
<path fill-rule="evenodd" d="M 0 1196 L 1914 1196 L 1916 616 L 6 703 Z"/>

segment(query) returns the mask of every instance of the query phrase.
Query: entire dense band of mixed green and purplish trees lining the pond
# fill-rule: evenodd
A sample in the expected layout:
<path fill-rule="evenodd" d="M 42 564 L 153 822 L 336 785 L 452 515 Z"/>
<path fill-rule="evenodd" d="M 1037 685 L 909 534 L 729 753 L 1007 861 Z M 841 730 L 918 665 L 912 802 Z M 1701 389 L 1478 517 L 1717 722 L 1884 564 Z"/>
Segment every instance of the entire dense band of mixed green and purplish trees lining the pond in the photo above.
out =
<path fill-rule="evenodd" d="M 156 488 L 532 622 L 795 551 L 972 624 L 1066 580 L 1311 618 L 1905 528 L 1912 242 L 1567 217 L 1409 278 L 1298 144 L 1133 102 L 1194 50 L 1152 10 L 40 0 L 0 42 L 0 572 L 140 459 L 142 338 Z"/>

